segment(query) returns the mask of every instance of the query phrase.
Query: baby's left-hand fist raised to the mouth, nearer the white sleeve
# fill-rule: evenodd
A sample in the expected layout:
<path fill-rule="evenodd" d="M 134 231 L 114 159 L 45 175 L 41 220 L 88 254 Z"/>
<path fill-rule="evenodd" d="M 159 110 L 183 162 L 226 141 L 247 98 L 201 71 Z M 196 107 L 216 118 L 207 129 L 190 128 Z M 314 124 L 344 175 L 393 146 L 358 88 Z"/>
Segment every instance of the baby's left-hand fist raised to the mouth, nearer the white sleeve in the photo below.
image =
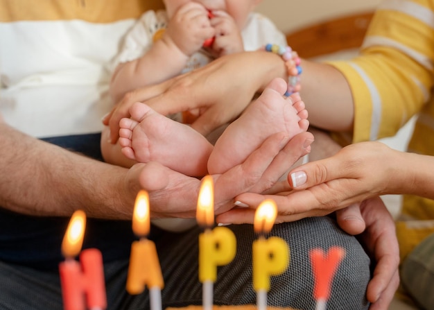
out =
<path fill-rule="evenodd" d="M 171 40 L 187 56 L 202 48 L 209 37 L 214 36 L 214 28 L 208 17 L 208 10 L 197 2 L 182 6 L 168 23 L 164 40 Z"/>

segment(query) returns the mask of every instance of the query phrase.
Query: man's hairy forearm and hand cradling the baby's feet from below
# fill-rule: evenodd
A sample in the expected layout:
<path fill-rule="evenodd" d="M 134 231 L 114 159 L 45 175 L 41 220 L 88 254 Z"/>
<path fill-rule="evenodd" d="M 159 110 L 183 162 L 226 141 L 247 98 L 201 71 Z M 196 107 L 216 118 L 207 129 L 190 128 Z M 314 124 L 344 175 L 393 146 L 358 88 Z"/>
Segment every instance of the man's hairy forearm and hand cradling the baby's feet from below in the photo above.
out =
<path fill-rule="evenodd" d="M 311 135 L 300 135 L 302 141 Z M 295 139 L 294 139 L 295 140 Z M 150 194 L 151 216 L 190 217 L 196 214 L 200 180 L 156 162 L 125 169 L 92 160 L 58 146 L 28 137 L 0 121 L 0 205 L 39 216 L 70 216 L 84 209 L 89 217 L 130 219 L 139 189 Z M 234 196 L 261 187 L 279 172 L 281 135 L 268 138 L 242 164 L 214 175 L 216 209 L 233 207 Z M 293 148 L 293 157 L 306 154 Z M 262 178 L 266 175 L 266 178 Z M 264 180 L 265 179 L 265 180 Z"/>

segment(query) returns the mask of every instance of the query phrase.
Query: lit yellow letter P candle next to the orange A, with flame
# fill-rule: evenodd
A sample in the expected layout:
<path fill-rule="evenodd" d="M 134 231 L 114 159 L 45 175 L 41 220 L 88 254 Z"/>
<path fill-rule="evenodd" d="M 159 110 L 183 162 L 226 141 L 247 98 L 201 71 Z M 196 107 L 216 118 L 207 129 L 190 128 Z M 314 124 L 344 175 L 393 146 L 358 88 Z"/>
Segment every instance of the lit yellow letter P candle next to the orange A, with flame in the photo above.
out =
<path fill-rule="evenodd" d="M 234 232 L 214 226 L 214 182 L 210 175 L 202 180 L 196 209 L 196 220 L 205 227 L 199 235 L 199 281 L 203 284 L 203 309 L 213 308 L 213 289 L 217 266 L 229 264 L 236 254 Z"/>

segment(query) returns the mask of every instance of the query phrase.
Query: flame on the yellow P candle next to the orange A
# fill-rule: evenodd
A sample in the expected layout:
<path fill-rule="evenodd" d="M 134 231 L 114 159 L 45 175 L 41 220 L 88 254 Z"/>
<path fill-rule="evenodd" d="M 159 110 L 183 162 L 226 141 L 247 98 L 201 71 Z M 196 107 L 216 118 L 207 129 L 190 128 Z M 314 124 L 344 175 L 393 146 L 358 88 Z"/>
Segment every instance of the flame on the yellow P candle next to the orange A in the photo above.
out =
<path fill-rule="evenodd" d="M 211 175 L 206 175 L 200 185 L 196 220 L 208 227 L 214 223 L 214 181 Z"/>

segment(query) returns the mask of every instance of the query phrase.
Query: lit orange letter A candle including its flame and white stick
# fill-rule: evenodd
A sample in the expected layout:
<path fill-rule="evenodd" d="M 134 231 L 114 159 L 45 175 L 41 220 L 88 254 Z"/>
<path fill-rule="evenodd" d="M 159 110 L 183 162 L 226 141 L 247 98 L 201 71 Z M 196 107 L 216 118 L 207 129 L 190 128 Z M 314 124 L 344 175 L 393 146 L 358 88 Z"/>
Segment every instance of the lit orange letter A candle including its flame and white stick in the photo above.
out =
<path fill-rule="evenodd" d="M 149 196 L 147 191 L 139 191 L 132 214 L 132 231 L 140 237 L 131 245 L 130 266 L 126 289 L 135 295 L 148 286 L 150 309 L 162 309 L 162 293 L 164 286 L 162 270 L 159 266 L 155 243 L 147 236 L 150 231 Z"/>

